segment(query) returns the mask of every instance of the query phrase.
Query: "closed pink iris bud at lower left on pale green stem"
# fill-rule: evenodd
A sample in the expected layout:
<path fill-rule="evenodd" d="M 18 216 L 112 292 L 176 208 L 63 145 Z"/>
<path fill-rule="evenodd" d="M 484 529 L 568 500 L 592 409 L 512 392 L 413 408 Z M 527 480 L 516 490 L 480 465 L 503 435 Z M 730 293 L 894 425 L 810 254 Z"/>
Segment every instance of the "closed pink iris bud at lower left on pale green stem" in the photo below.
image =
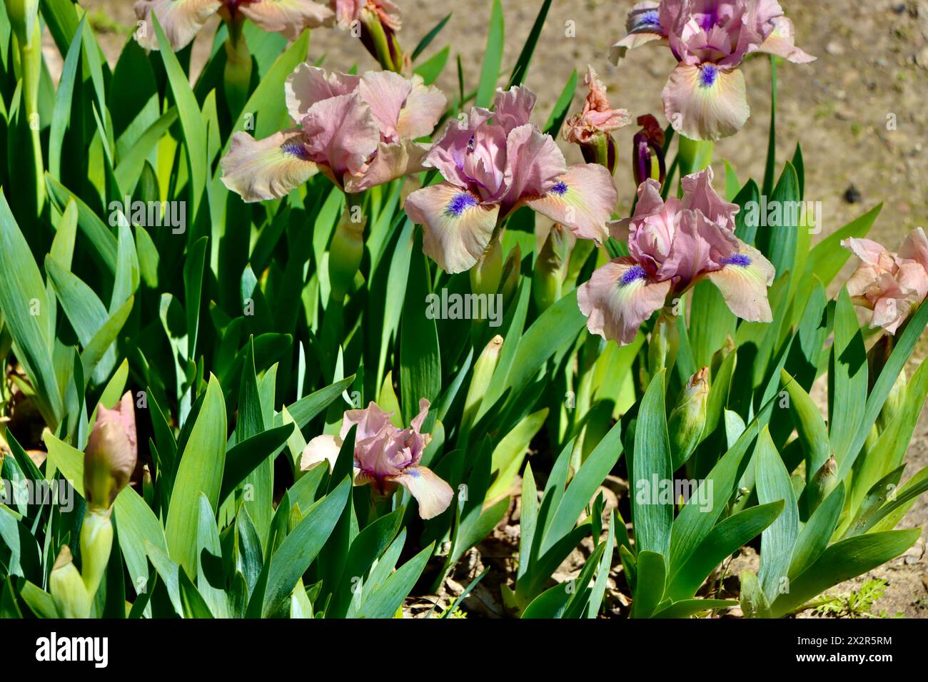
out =
<path fill-rule="evenodd" d="M 92 508 L 110 508 L 129 483 L 138 458 L 132 393 L 108 409 L 97 407 L 97 420 L 84 450 L 84 497 Z"/>

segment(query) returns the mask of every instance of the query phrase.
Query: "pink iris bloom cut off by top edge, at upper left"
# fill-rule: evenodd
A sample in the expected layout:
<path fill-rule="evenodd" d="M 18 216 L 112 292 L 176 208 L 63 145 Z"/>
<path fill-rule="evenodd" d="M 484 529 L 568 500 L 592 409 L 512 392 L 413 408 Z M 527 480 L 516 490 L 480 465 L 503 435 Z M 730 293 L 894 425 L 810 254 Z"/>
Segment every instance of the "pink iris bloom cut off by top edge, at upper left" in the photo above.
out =
<path fill-rule="evenodd" d="M 164 36 L 175 50 L 186 47 L 213 14 L 227 22 L 238 15 L 251 19 L 264 31 L 283 33 L 295 40 L 304 29 L 330 25 L 335 13 L 313 0 L 139 0 L 135 17 L 145 22 L 144 31 L 136 31 L 139 45 L 158 49 L 158 36 L 151 22 L 158 16 Z"/>

